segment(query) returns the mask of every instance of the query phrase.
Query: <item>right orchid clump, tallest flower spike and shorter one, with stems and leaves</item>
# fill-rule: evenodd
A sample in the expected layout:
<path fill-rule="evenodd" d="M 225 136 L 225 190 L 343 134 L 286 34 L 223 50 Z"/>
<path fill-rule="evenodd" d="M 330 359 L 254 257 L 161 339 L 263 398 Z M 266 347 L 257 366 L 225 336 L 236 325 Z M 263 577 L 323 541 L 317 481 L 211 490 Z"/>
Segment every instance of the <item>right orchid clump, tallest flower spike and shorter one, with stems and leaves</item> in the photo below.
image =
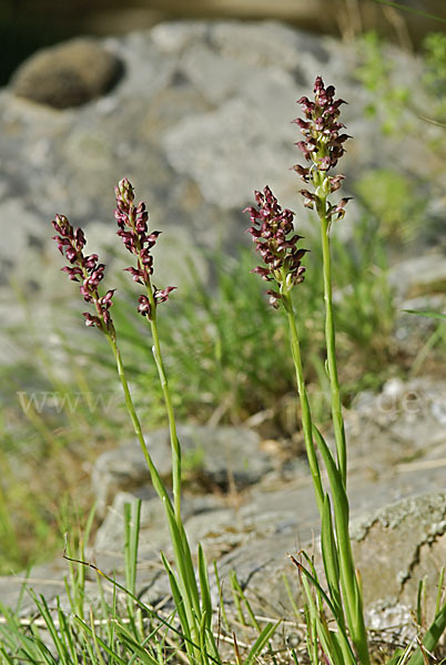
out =
<path fill-rule="evenodd" d="M 337 203 L 332 202 L 331 195 L 341 188 L 345 176 L 331 175 L 331 172 L 343 156 L 344 144 L 351 136 L 343 132 L 345 125 L 339 122 L 341 106 L 345 101 L 335 99 L 335 88 L 325 88 L 321 76 L 316 78 L 314 84 L 314 100 L 302 96 L 297 103 L 302 105 L 303 117 L 293 122 L 300 127 L 304 140 L 298 141 L 296 145 L 310 165 L 296 164 L 294 171 L 305 185 L 311 187 L 300 190 L 300 193 L 305 207 L 314 209 L 320 221 L 325 305 L 325 368 L 330 378 L 335 454 L 312 418 L 301 356 L 298 316 L 291 298 L 292 289 L 304 280 L 305 268 L 301 265 L 301 259 L 306 249 L 297 248 L 302 236 L 294 232 L 294 213 L 283 209 L 267 186 L 263 192 L 255 192 L 256 206 L 245 208 L 252 224 L 249 232 L 263 259 L 263 265 L 252 272 L 271 283 L 272 288 L 266 291 L 270 304 L 276 309 L 282 306 L 287 318 L 302 409 L 303 436 L 321 515 L 321 546 L 327 591 L 323 589 L 312 560 L 304 552 L 301 557 L 291 557 L 298 567 L 306 598 L 308 654 L 314 665 L 321 661 L 336 665 L 369 665 L 361 577 L 355 569 L 349 539 L 347 447 L 336 364 L 330 243 L 333 223 L 344 217 L 349 201 L 349 197 L 342 197 Z M 322 481 L 320 461 L 325 467 L 327 488 Z M 302 563 L 302 557 L 305 559 L 306 565 Z M 315 590 L 316 600 L 313 593 Z M 336 623 L 336 631 L 330 627 L 325 618 L 326 608 Z M 443 628 L 446 626 L 446 605 L 438 613 L 437 621 Z M 408 663 L 419 663 L 422 657 L 420 648 Z"/>

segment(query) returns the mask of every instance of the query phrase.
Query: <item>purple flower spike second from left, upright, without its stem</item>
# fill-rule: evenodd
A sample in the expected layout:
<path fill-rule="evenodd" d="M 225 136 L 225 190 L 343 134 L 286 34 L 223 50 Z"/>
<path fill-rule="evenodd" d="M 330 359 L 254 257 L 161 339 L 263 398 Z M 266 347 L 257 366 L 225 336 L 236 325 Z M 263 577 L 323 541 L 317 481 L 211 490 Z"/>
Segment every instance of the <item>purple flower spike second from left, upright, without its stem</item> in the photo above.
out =
<path fill-rule="evenodd" d="M 151 285 L 151 275 L 153 275 L 153 256 L 151 249 L 155 246 L 161 231 L 149 232 L 149 213 L 145 203 L 140 202 L 134 205 L 134 191 L 131 183 L 124 177 L 114 187 L 116 196 L 116 209 L 114 216 L 119 226 L 116 232 L 126 249 L 136 257 L 136 267 L 124 268 L 130 273 L 133 282 L 144 285 L 149 294 L 153 294 L 151 304 L 148 296 L 140 296 L 138 311 L 153 320 L 153 306 L 165 303 L 169 294 L 176 288 L 168 286 L 159 290 Z"/>

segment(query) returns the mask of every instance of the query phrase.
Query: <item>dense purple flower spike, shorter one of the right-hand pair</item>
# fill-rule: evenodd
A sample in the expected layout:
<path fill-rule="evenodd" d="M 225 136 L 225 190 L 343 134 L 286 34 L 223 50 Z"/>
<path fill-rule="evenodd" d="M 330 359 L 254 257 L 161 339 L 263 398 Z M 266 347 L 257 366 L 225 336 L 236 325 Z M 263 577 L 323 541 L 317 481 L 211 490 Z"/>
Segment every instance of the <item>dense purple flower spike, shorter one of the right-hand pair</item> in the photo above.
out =
<path fill-rule="evenodd" d="M 301 259 L 307 249 L 297 248 L 302 236 L 294 234 L 294 213 L 287 208 L 282 209 L 277 198 L 270 187 L 254 194 L 257 206 L 245 208 L 250 213 L 251 228 L 247 229 L 253 236 L 256 250 L 263 258 L 264 266 L 255 267 L 252 273 L 257 273 L 266 282 L 275 282 L 280 287 L 300 284 L 304 279 L 305 268 Z M 281 294 L 267 290 L 270 304 L 277 308 Z"/>

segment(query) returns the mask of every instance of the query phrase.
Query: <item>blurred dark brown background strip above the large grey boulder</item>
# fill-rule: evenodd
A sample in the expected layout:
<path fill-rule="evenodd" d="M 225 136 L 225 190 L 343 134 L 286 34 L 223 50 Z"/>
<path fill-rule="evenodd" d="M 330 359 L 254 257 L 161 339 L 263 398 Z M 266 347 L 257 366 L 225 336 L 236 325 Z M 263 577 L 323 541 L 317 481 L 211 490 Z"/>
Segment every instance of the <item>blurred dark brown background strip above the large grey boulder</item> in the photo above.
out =
<path fill-rule="evenodd" d="M 2 0 L 0 85 L 24 58 L 44 45 L 78 34 L 123 34 L 172 19 L 275 19 L 344 39 L 377 30 L 409 49 L 418 48 L 427 32 L 445 29 L 434 18 L 446 20 L 443 0 L 401 0 L 399 4 L 414 12 L 402 16 L 374 0 Z"/>

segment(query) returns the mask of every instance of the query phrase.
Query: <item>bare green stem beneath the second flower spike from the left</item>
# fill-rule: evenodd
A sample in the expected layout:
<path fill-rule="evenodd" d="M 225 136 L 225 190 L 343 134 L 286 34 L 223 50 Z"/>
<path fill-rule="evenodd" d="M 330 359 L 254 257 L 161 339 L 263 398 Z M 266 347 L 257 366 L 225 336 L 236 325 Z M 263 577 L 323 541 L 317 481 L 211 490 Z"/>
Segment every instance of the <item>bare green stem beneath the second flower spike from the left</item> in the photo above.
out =
<path fill-rule="evenodd" d="M 163 358 L 161 355 L 160 335 L 156 323 L 156 303 L 153 296 L 152 286 L 146 285 L 148 298 L 151 305 L 150 327 L 152 331 L 153 347 L 152 354 L 155 360 L 158 375 L 160 377 L 161 388 L 163 391 L 165 410 L 168 412 L 169 432 L 172 450 L 172 489 L 173 489 L 173 505 L 175 520 L 179 528 L 182 528 L 181 521 L 181 446 L 176 434 L 175 415 L 173 411 L 172 397 L 169 388 L 168 376 L 164 370 Z"/>

